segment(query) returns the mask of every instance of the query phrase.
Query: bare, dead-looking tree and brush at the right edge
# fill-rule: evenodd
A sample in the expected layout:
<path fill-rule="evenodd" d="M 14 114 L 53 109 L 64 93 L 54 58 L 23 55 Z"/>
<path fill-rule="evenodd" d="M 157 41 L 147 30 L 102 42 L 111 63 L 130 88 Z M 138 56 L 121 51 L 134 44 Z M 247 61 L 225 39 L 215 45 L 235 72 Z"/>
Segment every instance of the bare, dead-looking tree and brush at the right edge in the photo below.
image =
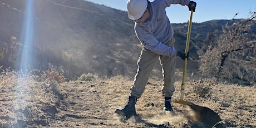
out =
<path fill-rule="evenodd" d="M 208 33 L 204 48 L 199 50 L 203 76 L 225 78 L 240 85 L 255 84 L 255 18 L 256 12 L 250 12 L 247 19 L 233 18 L 221 31 Z"/>

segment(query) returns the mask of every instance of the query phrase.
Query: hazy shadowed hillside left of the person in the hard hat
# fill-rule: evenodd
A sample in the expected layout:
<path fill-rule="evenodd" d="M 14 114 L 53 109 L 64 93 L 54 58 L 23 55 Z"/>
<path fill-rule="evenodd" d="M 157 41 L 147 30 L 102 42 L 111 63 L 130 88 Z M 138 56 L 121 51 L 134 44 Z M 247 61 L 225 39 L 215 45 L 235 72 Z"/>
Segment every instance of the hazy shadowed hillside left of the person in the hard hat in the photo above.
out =
<path fill-rule="evenodd" d="M 26 1 L 1 3 L 1 43 L 8 42 L 14 36 L 22 44 L 22 28 L 28 16 Z M 127 60 L 133 56 L 129 53 L 120 57 L 118 48 L 125 45 L 125 52 L 132 52 L 131 48 L 137 45 L 137 42 L 133 42 L 133 22 L 127 19 L 126 12 L 82 0 L 44 0 L 35 1 L 33 5 L 35 61 L 32 69 L 47 70 L 48 63 L 51 63 L 55 67 L 62 67 L 68 78 L 84 72 L 106 76 L 126 75 L 121 67 L 130 66 L 116 60 Z"/>

